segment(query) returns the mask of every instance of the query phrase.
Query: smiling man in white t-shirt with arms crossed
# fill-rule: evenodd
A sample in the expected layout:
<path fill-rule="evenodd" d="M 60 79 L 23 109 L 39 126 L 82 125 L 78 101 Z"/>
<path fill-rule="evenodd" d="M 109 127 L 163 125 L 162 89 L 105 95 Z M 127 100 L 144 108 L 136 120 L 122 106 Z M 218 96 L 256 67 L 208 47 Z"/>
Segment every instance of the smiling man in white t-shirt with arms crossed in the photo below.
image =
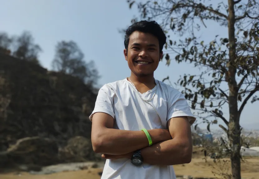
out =
<path fill-rule="evenodd" d="M 155 21 L 125 34 L 130 77 L 104 85 L 92 121 L 92 146 L 106 158 L 102 179 L 175 179 L 172 165 L 190 163 L 195 117 L 176 89 L 154 79 L 166 36 Z"/>

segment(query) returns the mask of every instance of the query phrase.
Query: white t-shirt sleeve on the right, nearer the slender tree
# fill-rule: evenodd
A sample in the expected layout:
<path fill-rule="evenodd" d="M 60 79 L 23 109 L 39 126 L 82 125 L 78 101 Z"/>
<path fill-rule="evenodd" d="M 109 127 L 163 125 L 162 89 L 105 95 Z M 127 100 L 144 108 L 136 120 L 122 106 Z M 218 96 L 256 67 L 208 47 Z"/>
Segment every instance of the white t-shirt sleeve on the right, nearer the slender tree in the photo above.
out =
<path fill-rule="evenodd" d="M 191 109 L 185 99 L 184 95 L 179 92 L 172 100 L 168 100 L 168 109 L 167 109 L 167 121 L 172 117 L 181 117 L 187 116 L 190 124 L 192 125 L 196 118 L 192 114 Z"/>

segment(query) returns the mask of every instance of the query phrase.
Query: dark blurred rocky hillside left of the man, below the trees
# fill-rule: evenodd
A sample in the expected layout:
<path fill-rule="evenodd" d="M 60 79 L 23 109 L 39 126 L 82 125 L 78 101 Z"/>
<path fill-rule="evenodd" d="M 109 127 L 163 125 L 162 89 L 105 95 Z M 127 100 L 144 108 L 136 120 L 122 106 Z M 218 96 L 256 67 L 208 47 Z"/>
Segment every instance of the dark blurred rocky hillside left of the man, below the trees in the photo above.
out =
<path fill-rule="evenodd" d="M 0 53 L 0 165 L 98 160 L 88 119 L 96 96 L 76 77 Z"/>

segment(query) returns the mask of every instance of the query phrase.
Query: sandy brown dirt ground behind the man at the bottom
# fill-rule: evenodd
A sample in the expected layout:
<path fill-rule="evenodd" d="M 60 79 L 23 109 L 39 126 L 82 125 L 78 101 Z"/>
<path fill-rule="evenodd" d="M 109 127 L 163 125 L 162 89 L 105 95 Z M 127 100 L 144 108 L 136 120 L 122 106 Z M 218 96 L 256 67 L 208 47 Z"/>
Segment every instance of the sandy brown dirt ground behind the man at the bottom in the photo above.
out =
<path fill-rule="evenodd" d="M 212 171 L 216 173 L 230 173 L 229 159 L 220 160 L 220 163 L 214 163 L 213 159 L 207 158 L 205 162 L 201 152 L 193 154 L 191 163 L 185 165 L 175 165 L 176 175 L 191 175 L 193 177 L 215 177 Z M 225 162 L 224 162 L 225 161 Z M 1 179 L 100 179 L 99 172 L 102 169 L 90 168 L 87 170 L 60 172 L 49 175 L 32 175 L 26 172 L 0 173 Z M 241 163 L 241 175 L 245 179 L 258 179 L 259 176 L 259 158 L 245 158 Z M 219 177 L 219 176 L 217 176 Z"/>

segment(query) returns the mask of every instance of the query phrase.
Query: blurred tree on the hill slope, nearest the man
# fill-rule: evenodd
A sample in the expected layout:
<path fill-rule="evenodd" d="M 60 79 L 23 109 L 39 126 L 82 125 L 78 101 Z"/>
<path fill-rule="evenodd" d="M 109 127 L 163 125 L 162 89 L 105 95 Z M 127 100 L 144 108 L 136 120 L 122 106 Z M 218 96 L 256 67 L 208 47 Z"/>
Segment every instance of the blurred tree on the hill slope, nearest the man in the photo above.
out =
<path fill-rule="evenodd" d="M 52 66 L 54 70 L 77 76 L 87 84 L 96 84 L 99 78 L 94 62 L 85 62 L 84 54 L 73 41 L 58 42 Z"/>

